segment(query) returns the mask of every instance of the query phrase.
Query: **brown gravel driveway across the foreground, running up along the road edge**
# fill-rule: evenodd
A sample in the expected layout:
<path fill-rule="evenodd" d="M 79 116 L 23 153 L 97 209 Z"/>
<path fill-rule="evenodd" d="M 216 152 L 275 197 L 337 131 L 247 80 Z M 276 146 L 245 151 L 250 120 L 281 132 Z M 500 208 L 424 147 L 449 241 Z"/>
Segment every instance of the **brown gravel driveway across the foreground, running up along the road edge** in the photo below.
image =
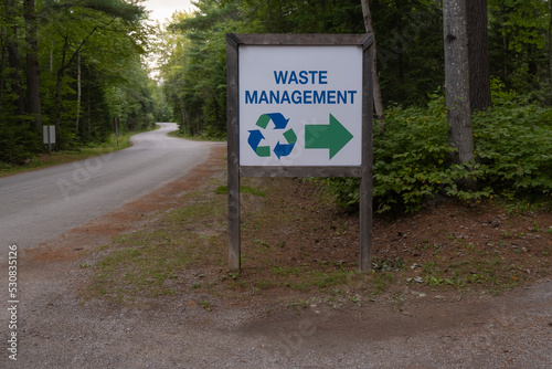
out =
<path fill-rule="evenodd" d="M 3 294 L 1 368 L 551 368 L 552 281 L 488 294 L 392 296 L 332 308 L 168 296 L 128 308 L 84 299 L 87 251 L 169 207 L 209 176 L 195 171 L 155 197 L 18 254 L 17 329 Z M 206 169 L 205 169 L 206 168 Z M 206 170 L 206 171 L 205 171 Z M 157 207 L 157 208 L 156 208 Z M 102 230 L 93 234 L 93 230 Z M 1 267 L 7 271 L 7 265 Z M 3 281 L 7 281 L 7 272 Z M 213 297 L 214 298 L 214 297 Z M 17 331 L 17 361 L 8 350 Z"/>

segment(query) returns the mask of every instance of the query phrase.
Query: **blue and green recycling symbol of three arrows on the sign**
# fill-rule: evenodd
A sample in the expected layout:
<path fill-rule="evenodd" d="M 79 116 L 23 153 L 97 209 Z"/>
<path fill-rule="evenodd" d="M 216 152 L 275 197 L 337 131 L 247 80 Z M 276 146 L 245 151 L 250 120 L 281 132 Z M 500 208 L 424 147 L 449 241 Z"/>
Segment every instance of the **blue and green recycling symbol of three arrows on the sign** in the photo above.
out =
<path fill-rule="evenodd" d="M 287 127 L 287 124 L 289 119 L 286 119 L 284 115 L 280 113 L 270 113 L 270 114 L 263 114 L 258 117 L 256 126 L 263 129 L 266 129 L 268 127 L 268 124 L 273 122 L 274 123 L 274 129 L 276 130 L 284 130 Z M 284 138 L 286 139 L 287 144 L 282 144 L 280 140 L 276 144 L 274 147 L 274 154 L 278 157 L 278 159 L 282 160 L 282 157 L 289 156 L 291 151 L 294 150 L 295 144 L 297 143 L 297 135 L 293 129 L 288 129 L 283 134 Z M 258 157 L 262 158 L 267 158 L 269 157 L 270 154 L 270 147 L 269 146 L 261 146 L 261 143 L 265 139 L 265 136 L 261 131 L 261 129 L 253 129 L 250 130 L 250 137 L 247 138 L 247 144 L 250 144 L 251 148 L 253 151 Z"/>

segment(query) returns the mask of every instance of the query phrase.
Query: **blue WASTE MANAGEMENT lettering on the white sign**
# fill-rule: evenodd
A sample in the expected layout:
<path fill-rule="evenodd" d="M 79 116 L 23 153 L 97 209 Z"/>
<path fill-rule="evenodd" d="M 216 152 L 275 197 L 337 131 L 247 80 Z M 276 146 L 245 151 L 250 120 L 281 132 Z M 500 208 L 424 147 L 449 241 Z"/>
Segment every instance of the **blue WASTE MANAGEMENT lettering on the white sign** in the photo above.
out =
<path fill-rule="evenodd" d="M 274 71 L 277 85 L 327 85 L 328 71 Z M 339 89 L 295 89 L 295 91 L 245 91 L 245 104 L 354 104 L 357 91 Z"/>

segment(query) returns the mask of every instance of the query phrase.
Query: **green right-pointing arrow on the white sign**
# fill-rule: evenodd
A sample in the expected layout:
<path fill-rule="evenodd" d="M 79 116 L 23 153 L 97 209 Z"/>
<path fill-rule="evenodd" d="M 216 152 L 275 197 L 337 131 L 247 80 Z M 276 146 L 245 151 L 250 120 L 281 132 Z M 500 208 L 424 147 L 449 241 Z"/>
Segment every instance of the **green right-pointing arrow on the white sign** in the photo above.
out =
<path fill-rule="evenodd" d="M 351 133 L 331 114 L 329 125 L 305 126 L 305 148 L 330 149 L 330 160 L 349 144 L 352 137 Z"/>

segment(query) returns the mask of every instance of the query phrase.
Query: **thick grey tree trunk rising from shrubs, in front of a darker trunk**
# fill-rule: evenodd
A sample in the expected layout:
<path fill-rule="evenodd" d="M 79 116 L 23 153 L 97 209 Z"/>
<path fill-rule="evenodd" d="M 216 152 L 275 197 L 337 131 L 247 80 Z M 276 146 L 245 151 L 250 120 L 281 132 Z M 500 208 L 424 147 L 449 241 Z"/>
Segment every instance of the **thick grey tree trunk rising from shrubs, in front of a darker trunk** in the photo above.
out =
<path fill-rule="evenodd" d="M 474 159 L 466 0 L 443 1 L 443 22 L 448 141 L 457 149 L 453 161 L 459 164 Z"/>

